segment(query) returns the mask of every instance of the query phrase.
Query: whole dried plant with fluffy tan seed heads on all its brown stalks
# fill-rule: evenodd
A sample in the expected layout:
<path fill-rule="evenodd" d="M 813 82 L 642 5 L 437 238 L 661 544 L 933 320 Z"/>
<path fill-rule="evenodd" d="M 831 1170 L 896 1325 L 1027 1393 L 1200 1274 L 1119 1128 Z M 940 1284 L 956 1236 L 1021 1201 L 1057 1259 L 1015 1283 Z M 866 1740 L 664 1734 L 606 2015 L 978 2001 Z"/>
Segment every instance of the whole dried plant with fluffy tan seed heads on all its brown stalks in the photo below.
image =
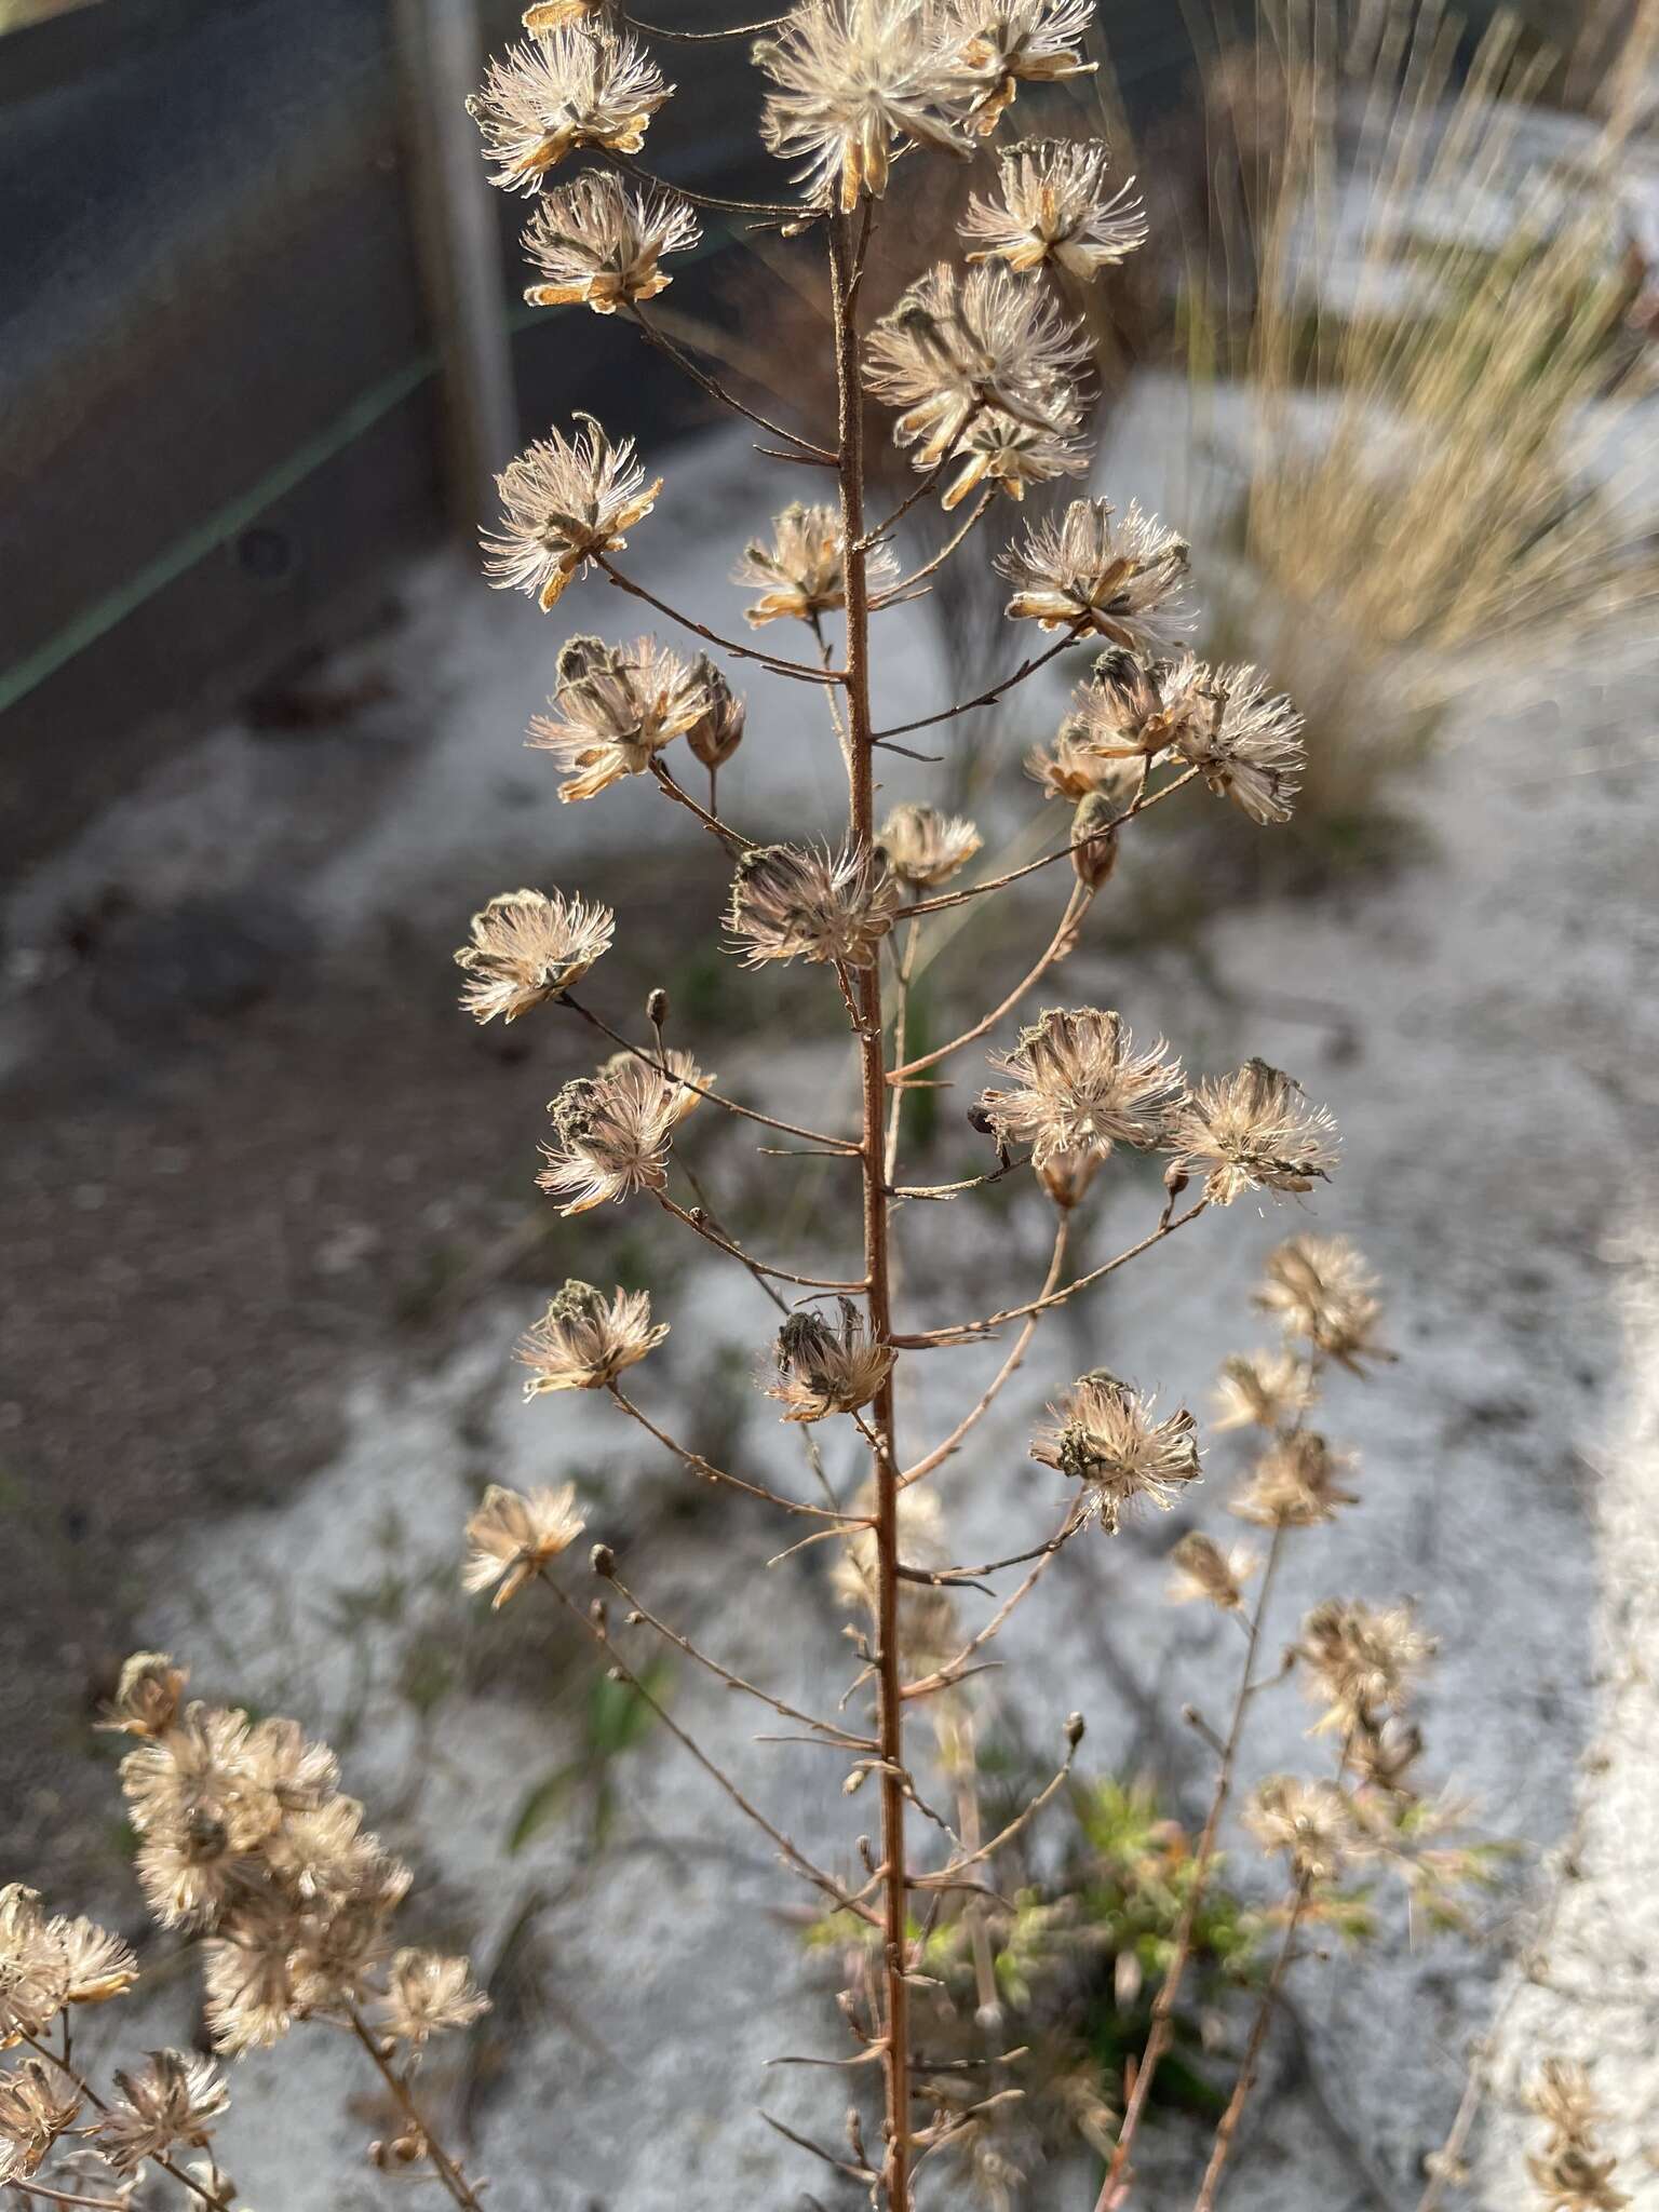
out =
<path fill-rule="evenodd" d="M 776 201 L 675 197 L 633 168 L 670 88 L 639 46 L 639 27 L 606 4 L 531 9 L 529 42 L 495 64 L 473 106 L 493 181 L 542 195 L 526 243 L 551 281 L 531 296 L 566 310 L 586 305 L 666 345 L 706 394 L 754 422 L 772 458 L 823 471 L 834 484 L 823 502 L 787 502 L 743 555 L 739 582 L 759 593 L 745 611 L 750 639 L 690 619 L 622 564 L 624 533 L 670 493 L 661 478 L 648 478 L 630 440 L 613 440 L 591 418 L 575 436 L 553 429 L 507 467 L 487 566 L 495 584 L 524 591 L 542 613 L 577 573 L 597 571 L 697 641 L 697 657 L 681 659 L 650 635 L 624 644 L 568 639 L 551 714 L 531 721 L 531 745 L 555 754 L 566 803 L 619 805 L 653 790 L 697 818 L 730 872 L 728 953 L 745 969 L 794 967 L 801 991 L 845 1022 L 858 1073 L 856 1128 L 803 1126 L 721 1088 L 690 1048 L 666 1042 L 670 1006 L 661 989 L 646 1000 L 648 1035 L 613 1026 L 586 998 L 588 980 L 602 984 L 606 973 L 615 933 L 608 907 L 562 891 L 504 894 L 473 918 L 456 960 L 467 973 L 462 1006 L 476 1020 L 568 1018 L 604 1040 L 608 1057 L 566 1082 L 549 1106 L 538 1183 L 564 1214 L 626 1201 L 655 1206 L 768 1294 L 779 1327 L 759 1387 L 779 1407 L 779 1433 L 794 1431 L 803 1444 L 810 1495 L 787 1471 L 714 1464 L 635 1402 L 630 1369 L 648 1371 L 668 1332 L 653 1321 L 644 1292 L 606 1296 L 566 1283 L 520 1343 L 526 1394 L 602 1394 L 697 1482 L 728 1493 L 734 1513 L 781 1513 L 801 1544 L 836 1546 L 832 1579 L 852 1613 L 852 1679 L 838 1703 L 823 1701 L 830 1712 L 785 1703 L 650 1613 L 606 1544 L 588 1562 L 597 1597 L 575 1595 L 571 1553 L 584 1524 L 568 1484 L 529 1495 L 491 1486 L 467 1522 L 462 1582 L 489 1593 L 495 1608 L 538 1597 L 562 1608 L 615 1681 L 814 1891 L 821 1927 L 849 1960 L 841 2013 L 854 2048 L 830 2064 L 847 2066 L 858 2081 L 880 2079 L 880 2115 L 865 2132 L 854 2108 L 845 2143 L 783 2132 L 885 2212 L 909 2212 L 918 2177 L 933 2172 L 942 2194 L 967 2174 L 991 2203 L 1009 2203 L 1026 2170 L 1026 2150 L 1004 2132 L 1024 2099 L 1024 2053 L 1002 2026 L 1004 2008 L 1026 2002 L 1022 1991 L 1042 1944 L 1035 1924 L 1006 1920 L 998 1874 L 1046 1809 L 1073 1792 L 1084 1719 L 1055 1719 L 1051 1772 L 989 1823 L 978 1761 L 984 1655 L 1064 1546 L 1110 1542 L 1128 1515 L 1190 1502 L 1203 1478 L 1199 1425 L 1186 1407 L 1159 1407 L 1104 1367 L 1071 1380 L 1031 1438 L 1033 1462 L 1057 1478 L 1055 1520 L 1000 1559 L 951 1557 L 936 1478 L 962 1464 L 969 1438 L 1048 1314 L 1150 1261 L 1170 1237 L 1194 1234 L 1199 1223 L 1219 1232 L 1239 1199 L 1298 1203 L 1338 1168 L 1329 1115 L 1283 1071 L 1248 1060 L 1232 1073 L 1190 1077 L 1161 1037 L 1137 1042 L 1115 1009 L 1051 1006 L 991 1055 L 993 1082 L 971 1110 L 984 1144 L 980 1172 L 956 1183 L 905 1179 L 907 1099 L 933 1088 L 940 1066 L 1011 1020 L 1073 953 L 1121 836 L 1181 794 L 1188 807 L 1212 796 L 1230 801 L 1272 836 L 1294 810 L 1301 774 L 1292 703 L 1254 668 L 1210 668 L 1177 644 L 1188 622 L 1186 540 L 1137 507 L 1117 509 L 1086 489 L 1064 511 L 1004 531 L 993 566 L 1009 584 L 1006 672 L 909 723 L 878 721 L 880 617 L 947 564 L 975 557 L 975 533 L 989 533 L 995 518 L 1020 520 L 1031 484 L 1088 467 L 1088 349 L 1066 288 L 1130 252 L 1141 223 L 1110 184 L 1104 146 L 1055 148 L 1051 137 L 1002 144 L 1015 122 L 1026 122 L 1037 97 L 1031 86 L 1093 66 L 1082 49 L 1088 18 L 1084 0 L 803 0 L 792 15 L 745 27 L 761 33 L 754 60 L 765 84 L 763 137 L 790 164 L 794 186 Z M 549 173 L 580 148 L 611 157 L 648 197 L 611 170 L 546 186 Z M 889 312 L 869 316 L 863 283 L 889 175 L 900 161 L 931 159 L 969 170 L 978 164 L 984 192 L 998 197 L 973 201 L 964 226 L 971 254 L 960 268 L 914 272 Z M 796 429 L 757 416 L 648 321 L 646 303 L 664 276 L 659 257 L 692 232 L 686 199 L 776 228 L 779 252 L 796 257 L 801 281 L 825 285 L 834 427 Z M 894 414 L 891 436 L 911 476 L 909 493 L 878 515 L 867 507 L 872 394 Z M 900 575 L 894 533 L 929 498 L 967 513 L 940 524 L 936 551 Z M 776 644 L 787 637 L 779 624 L 799 626 L 799 655 Z M 1026 626 L 1037 633 L 1029 648 Z M 982 845 L 971 821 L 911 803 L 878 823 L 880 770 L 911 750 L 905 739 L 993 706 L 1084 641 L 1104 650 L 1053 750 L 1031 763 L 1044 790 L 1075 803 L 1077 814 L 1068 830 L 1046 836 L 1037 858 L 962 880 Z M 730 776 L 743 741 L 743 701 L 721 661 L 763 666 L 801 701 L 821 703 L 825 745 L 845 763 L 847 810 L 816 841 L 739 827 L 741 807 L 728 810 L 719 794 L 717 770 Z M 706 787 L 675 768 L 681 737 L 708 774 Z M 1035 812 L 1051 818 L 1042 805 Z M 1064 880 L 1048 947 L 984 1015 L 907 1057 L 916 949 L 933 918 L 1048 869 Z M 695 1110 L 701 1128 L 732 1117 L 768 1152 L 783 1152 L 772 1170 L 779 1177 L 801 1172 L 790 1159 L 810 1155 L 825 1175 L 845 1179 L 834 1219 L 838 1250 L 856 1223 L 854 1272 L 818 1272 L 830 1263 L 763 1254 L 728 1232 L 684 1159 Z M 1091 1186 L 1135 1155 L 1164 1161 L 1161 1201 L 1126 1250 L 1077 1270 L 1077 1212 Z M 971 1206 L 975 1192 L 1015 1177 L 1053 1221 L 1040 1285 L 964 1318 L 900 1314 L 902 1212 Z M 690 1203 L 675 1197 L 677 1179 Z M 1276 1679 L 1261 1677 L 1259 1659 L 1285 1546 L 1316 1542 L 1307 1531 L 1356 1500 L 1352 1458 L 1310 1418 L 1332 1371 L 1360 1376 L 1389 1356 L 1376 1285 L 1340 1239 L 1296 1234 L 1283 1243 L 1267 1263 L 1261 1305 L 1281 1323 L 1285 1343 L 1225 1363 L 1219 1427 L 1256 1440 L 1234 1511 L 1265 1542 L 1223 1548 L 1190 1531 L 1170 1559 L 1175 1595 L 1217 1606 L 1237 1624 L 1243 1650 L 1230 1721 L 1210 1730 L 1199 1719 L 1217 1772 L 1201 1834 L 1166 1898 L 1146 2042 L 1121 2079 L 1091 2073 L 1086 2055 L 1064 2048 L 1048 2073 L 1048 2124 L 1055 2112 L 1068 2115 L 1075 2139 L 1106 2163 L 1099 2212 L 1133 2203 L 1137 2132 L 1179 2031 L 1181 1991 L 1194 1960 L 1217 1951 L 1221 1832 L 1241 1785 L 1245 1719 Z M 681 1316 L 675 1323 L 684 1329 Z M 942 1438 L 900 1449 L 896 1411 L 914 1367 L 987 1338 L 1006 1340 L 989 1387 Z M 838 1436 L 860 1462 L 849 1495 L 832 1482 L 825 1458 Z M 995 1582 L 1015 1571 L 1013 1586 Z M 971 1626 L 962 1608 L 987 1588 L 995 1593 L 991 1610 Z M 825 1836 L 803 1845 L 785 1834 L 664 1708 L 653 1666 L 635 1666 L 617 1637 L 615 1606 L 626 1626 L 661 1639 L 845 1761 L 847 1790 L 867 1787 L 878 1798 L 876 1840 Z M 1431 1650 L 1405 1608 L 1329 1599 L 1303 1624 L 1285 1672 L 1296 1672 L 1318 1705 L 1314 1736 L 1332 1743 L 1310 1752 L 1318 1772 L 1265 1778 L 1248 1812 L 1263 1851 L 1283 1860 L 1285 1893 L 1263 1918 L 1276 1940 L 1256 1975 L 1232 2084 L 1217 2099 L 1221 2119 L 1194 2212 L 1217 2201 L 1305 1931 L 1321 1922 L 1352 1931 L 1367 1918 L 1365 1896 L 1345 1887 L 1349 1871 L 1396 1871 L 1425 1924 L 1455 1920 L 1462 1889 L 1482 1878 L 1480 1847 L 1449 1840 L 1464 1812 L 1422 1798 L 1411 1781 L 1422 1756 L 1411 1699 Z M 442 2146 L 414 2088 L 429 2039 L 469 2026 L 480 2011 L 465 1962 L 394 1944 L 409 1871 L 363 1829 L 361 1807 L 341 1796 L 323 1745 L 305 1741 L 292 1721 L 250 1723 L 241 1712 L 186 1705 L 181 1697 L 181 1670 L 139 1655 L 122 1681 L 113 1725 L 137 1739 L 122 1781 L 139 1838 L 139 1882 L 164 1927 L 201 1938 L 217 2048 L 234 2057 L 301 2020 L 347 2031 L 403 2112 L 398 2137 L 376 2146 L 376 2163 L 431 2179 L 451 2201 L 476 2208 L 482 2183 Z M 1062 1920 L 1046 1913 L 1044 1942 Z M 987 2031 L 984 2046 L 960 2068 L 918 2035 L 940 1947 L 967 1962 Z M 208 2062 L 153 2055 L 146 2073 L 119 2075 L 111 2097 L 100 2097 L 75 2066 L 73 2006 L 117 1997 L 131 1973 L 122 1947 L 84 1922 L 49 1920 L 24 1891 L 0 1900 L 0 2033 L 31 2051 L 0 2079 L 0 2179 L 29 2183 L 42 2197 L 58 2190 L 60 2201 L 124 2205 L 131 2179 L 150 2163 L 223 2212 L 234 2188 L 210 2141 L 226 2086 Z M 49 2039 L 55 2024 L 58 2046 Z M 88 2148 L 69 2150 L 86 2110 L 95 2115 L 84 2130 Z M 1573 2143 L 1606 2190 L 1582 2130 Z M 206 2163 L 181 2170 L 181 2150 L 206 2150 Z M 62 2185 L 38 2181 L 49 2159 Z M 88 2159 L 115 2179 L 86 2183 Z M 1559 2157 L 1553 2185 L 1557 2170 Z"/>

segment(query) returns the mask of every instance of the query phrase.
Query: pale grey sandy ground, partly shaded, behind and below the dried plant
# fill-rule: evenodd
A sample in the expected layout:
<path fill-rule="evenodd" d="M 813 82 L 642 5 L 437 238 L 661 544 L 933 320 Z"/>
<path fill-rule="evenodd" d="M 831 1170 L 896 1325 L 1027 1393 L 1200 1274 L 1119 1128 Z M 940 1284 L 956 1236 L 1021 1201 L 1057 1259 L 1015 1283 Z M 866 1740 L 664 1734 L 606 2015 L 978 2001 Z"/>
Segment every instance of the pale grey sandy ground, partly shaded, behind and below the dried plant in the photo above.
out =
<path fill-rule="evenodd" d="M 745 520 L 734 451 L 717 442 L 677 465 L 695 529 L 664 502 L 655 540 L 639 535 L 653 586 L 726 626 L 734 595 L 719 580 Z M 1115 489 L 1161 491 L 1133 473 Z M 593 586 L 568 611 L 560 635 L 626 626 Z M 925 712 L 940 684 L 925 633 L 905 635 L 891 719 Z M 544 1283 L 639 1259 L 617 1243 L 619 1223 L 604 1225 L 597 1259 L 571 1234 L 520 1252 L 538 1106 L 584 1046 L 551 1024 L 518 1046 L 526 1057 L 469 1037 L 447 1004 L 445 949 L 471 905 L 520 880 L 613 896 L 624 942 L 644 894 L 637 929 L 653 947 L 664 929 L 675 942 L 706 931 L 721 894 L 719 854 L 650 794 L 619 792 L 580 816 L 549 803 L 544 763 L 520 750 L 544 688 L 538 650 L 551 659 L 553 639 L 522 604 L 449 566 L 414 577 L 407 626 L 330 670 L 347 697 L 367 679 L 389 686 L 349 712 L 347 734 L 305 750 L 221 732 L 13 902 L 22 958 L 0 1048 L 31 1144 L 7 1170 L 22 1208 L 11 1261 L 42 1287 L 7 1385 L 7 1471 L 31 1526 L 46 1506 L 58 1515 L 51 1544 L 35 1540 L 35 1579 L 58 1579 L 27 1599 L 9 1659 L 51 1632 L 66 1648 L 60 1674 L 91 1697 L 122 1635 L 164 1637 L 192 1652 L 204 1686 L 336 1734 L 354 1794 L 418 1856 L 422 1927 L 471 1940 L 502 1971 L 511 2064 L 504 2079 L 458 2084 L 498 2212 L 799 2201 L 823 2183 L 754 2110 L 827 2137 L 845 2101 L 818 2073 L 763 2070 L 781 2051 L 843 2048 L 830 1984 L 801 1969 L 799 1896 L 666 1745 L 617 1770 L 608 1849 L 588 1849 L 580 1783 L 575 1809 L 509 1856 L 526 1787 L 582 1761 L 588 1672 L 571 1639 L 513 1615 L 480 1624 L 451 1586 L 478 1480 L 573 1478 L 595 1533 L 628 1544 L 639 1595 L 732 1666 L 805 1703 L 847 1677 L 823 1553 L 765 1571 L 783 1537 L 759 1511 L 688 1498 L 672 1462 L 586 1405 L 518 1402 L 507 1352 Z M 752 699 L 732 812 L 825 818 L 838 763 L 805 728 L 810 701 L 765 681 Z M 1051 699 L 1009 741 L 1040 728 Z M 1194 1066 L 1250 1051 L 1290 1066 L 1329 1099 L 1347 1164 L 1316 1201 L 1208 1219 L 1055 1318 L 945 1478 L 956 1555 L 993 1557 L 1057 1520 L 1060 1478 L 1026 1460 L 1055 1387 L 1104 1363 L 1201 1407 L 1221 1354 L 1259 1336 L 1248 1294 L 1265 1250 L 1303 1225 L 1352 1232 L 1387 1281 L 1400 1365 L 1332 1396 L 1334 1436 L 1360 1451 L 1363 1506 L 1298 1546 L 1279 1619 L 1290 1632 L 1327 1593 L 1411 1595 L 1442 1639 L 1429 1767 L 1478 1798 L 1486 1834 L 1526 1847 L 1484 1942 L 1413 1951 L 1391 1913 L 1360 1966 L 1298 1971 L 1298 2033 L 1272 2046 L 1239 2212 L 1409 2212 L 1495 2006 L 1493 2128 L 1473 2201 L 1517 2201 L 1517 2081 L 1571 2048 L 1597 2059 L 1624 2185 L 1659 2203 L 1644 2163 L 1659 2139 L 1650 701 L 1652 653 L 1635 635 L 1597 644 L 1571 692 L 1498 670 L 1405 794 L 1420 830 L 1411 867 L 1318 905 L 1230 907 L 1194 942 L 1086 947 L 1064 984 L 1068 1000 L 1168 1031 Z M 644 838 L 650 869 L 635 858 Z M 1130 854 L 1121 898 L 1161 865 Z M 126 905 L 100 909 L 100 887 L 139 876 Z M 219 949 L 226 936 L 252 942 L 252 980 L 232 962 L 226 1004 L 208 995 L 204 1011 L 197 978 L 184 1013 L 175 991 L 144 1015 L 168 958 L 186 975 L 190 958 L 199 967 L 166 933 L 157 951 L 157 916 L 177 936 L 181 909 L 206 911 Z M 66 918 L 88 914 L 102 920 L 82 947 Z M 1022 927 L 1031 942 L 1046 931 L 1035 902 Z M 995 933 L 975 949 L 1009 978 L 1022 953 L 1024 940 Z M 650 958 L 635 973 L 613 956 L 595 1000 L 626 1020 L 630 989 L 657 980 Z M 675 978 L 688 1042 L 699 973 Z M 785 1048 L 768 1015 L 745 1015 L 741 995 L 737 1009 L 717 1000 L 721 1079 L 765 1086 L 785 1115 L 832 1115 L 847 1095 L 832 1035 Z M 712 1188 L 739 1183 L 748 1168 L 730 1133 L 692 1128 Z M 964 1144 L 945 1137 L 940 1164 Z M 1086 1252 L 1133 1241 L 1155 1208 L 1139 1177 L 1104 1179 Z M 757 1241 L 783 1250 L 792 1219 L 774 1206 Z M 1042 1274 L 1031 1197 L 989 1219 L 936 1208 L 914 1230 L 902 1294 L 918 1318 L 956 1318 Z M 796 1480 L 745 1383 L 770 1310 L 699 1248 L 650 1265 L 675 1336 L 641 1369 L 641 1402 L 697 1402 L 712 1420 L 723 1352 L 721 1371 L 737 1376 L 728 1449 Z M 909 1363 L 902 1433 L 949 1427 L 987 1358 Z M 1237 1464 L 1212 1440 L 1190 1513 L 1062 1557 L 1004 1644 L 987 1725 L 1055 1747 L 1079 1705 L 1097 1765 L 1155 1763 L 1201 1812 L 1203 1763 L 1168 1714 L 1181 1699 L 1219 1710 L 1232 1639 L 1164 1604 L 1159 1559 L 1181 1526 L 1225 1533 Z M 978 1601 L 962 1604 L 973 1619 Z M 442 1701 L 427 1730 L 434 1655 Z M 792 1834 L 841 1838 L 825 1856 L 852 1865 L 874 1807 L 843 1803 L 834 1759 L 759 1747 L 754 1717 L 690 1670 L 675 1712 Z M 1314 1772 L 1305 1723 L 1294 1694 L 1261 1701 L 1250 1767 Z M 97 1812 L 77 1778 L 73 1705 L 55 1728 L 69 1750 L 44 1792 L 31 1770 L 15 1849 L 38 1860 L 77 1812 L 82 1847 L 64 1856 L 91 1874 Z M 1582 1794 L 1579 1878 L 1535 1947 L 1533 1907 Z M 531 1905 L 540 1971 L 524 1995 L 507 1938 Z M 1517 1953 L 1544 1982 L 1511 2002 Z M 153 2002 L 157 2026 L 184 2022 L 179 1993 Z M 361 2172 L 374 2112 L 345 2097 L 336 2057 L 327 2037 L 299 2035 L 239 2075 L 228 2141 L 263 2212 L 358 2203 L 338 2177 Z M 1188 2159 L 1179 2130 L 1148 2137 L 1150 2201 L 1183 2201 L 1170 2192 Z M 938 2201 L 953 2194 L 936 2188 Z M 1048 2170 L 1026 2201 L 1060 2212 L 1086 2188 L 1082 2172 Z M 367 2181 L 361 2199 L 376 2201 Z"/>

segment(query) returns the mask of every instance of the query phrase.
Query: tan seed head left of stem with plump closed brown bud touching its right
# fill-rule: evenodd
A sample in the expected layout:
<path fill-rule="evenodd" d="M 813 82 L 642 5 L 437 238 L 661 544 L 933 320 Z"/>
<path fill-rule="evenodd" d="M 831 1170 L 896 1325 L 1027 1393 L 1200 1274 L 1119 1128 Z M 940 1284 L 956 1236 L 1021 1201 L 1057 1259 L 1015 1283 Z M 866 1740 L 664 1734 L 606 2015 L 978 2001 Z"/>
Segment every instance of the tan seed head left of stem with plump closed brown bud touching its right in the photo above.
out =
<path fill-rule="evenodd" d="M 551 752 L 562 770 L 560 799 L 597 799 L 624 776 L 641 776 L 681 732 L 710 708 L 697 672 L 655 637 L 606 646 L 573 637 L 557 659 L 553 714 L 533 714 L 524 739 Z"/>

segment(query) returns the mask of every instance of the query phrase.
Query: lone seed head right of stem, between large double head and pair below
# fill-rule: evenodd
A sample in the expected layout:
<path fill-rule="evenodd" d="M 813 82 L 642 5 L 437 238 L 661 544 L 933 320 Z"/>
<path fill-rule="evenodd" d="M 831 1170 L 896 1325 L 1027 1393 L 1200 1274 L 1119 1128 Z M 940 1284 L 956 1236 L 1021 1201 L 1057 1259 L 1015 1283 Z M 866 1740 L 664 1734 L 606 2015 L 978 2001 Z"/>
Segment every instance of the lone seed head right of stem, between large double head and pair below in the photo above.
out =
<path fill-rule="evenodd" d="M 1060 520 L 1035 522 L 998 555 L 1015 622 L 1093 630 L 1128 650 L 1179 626 L 1190 562 L 1183 538 L 1133 502 L 1113 520 L 1110 500 L 1073 500 Z"/>

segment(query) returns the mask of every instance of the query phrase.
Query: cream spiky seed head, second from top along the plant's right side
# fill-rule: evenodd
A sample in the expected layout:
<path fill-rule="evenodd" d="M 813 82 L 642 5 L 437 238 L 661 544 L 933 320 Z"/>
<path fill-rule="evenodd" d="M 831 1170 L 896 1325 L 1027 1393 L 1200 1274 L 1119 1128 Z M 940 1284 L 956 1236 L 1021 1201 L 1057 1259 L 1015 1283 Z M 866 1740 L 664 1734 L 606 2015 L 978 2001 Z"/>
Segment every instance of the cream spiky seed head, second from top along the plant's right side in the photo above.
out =
<path fill-rule="evenodd" d="M 1146 210 L 1130 177 L 1108 190 L 1104 139 L 1020 139 L 1002 153 L 998 197 L 973 199 L 962 237 L 969 261 L 1000 257 L 1011 270 L 1044 263 L 1088 283 L 1146 243 Z"/>

